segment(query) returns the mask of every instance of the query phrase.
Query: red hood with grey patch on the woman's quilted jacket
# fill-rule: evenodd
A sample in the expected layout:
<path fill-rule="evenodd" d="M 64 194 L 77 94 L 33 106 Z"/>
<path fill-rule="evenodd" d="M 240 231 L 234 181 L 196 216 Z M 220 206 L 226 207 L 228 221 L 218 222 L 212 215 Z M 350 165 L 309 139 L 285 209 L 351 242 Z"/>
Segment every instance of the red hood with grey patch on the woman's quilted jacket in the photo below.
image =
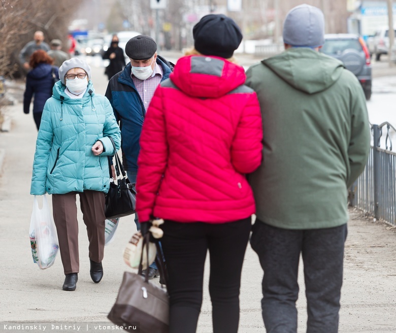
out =
<path fill-rule="evenodd" d="M 169 76 L 184 93 L 216 98 L 245 83 L 242 66 L 214 56 L 189 55 L 180 58 Z"/>

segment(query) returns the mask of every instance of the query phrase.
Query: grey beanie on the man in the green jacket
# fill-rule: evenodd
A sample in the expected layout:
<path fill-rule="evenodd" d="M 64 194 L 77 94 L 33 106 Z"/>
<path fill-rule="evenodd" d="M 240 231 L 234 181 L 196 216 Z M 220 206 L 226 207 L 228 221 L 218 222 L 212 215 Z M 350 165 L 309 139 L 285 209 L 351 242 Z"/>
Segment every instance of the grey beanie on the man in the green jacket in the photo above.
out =
<path fill-rule="evenodd" d="M 315 48 L 324 44 L 324 15 L 319 8 L 300 5 L 291 9 L 283 24 L 283 42 Z"/>

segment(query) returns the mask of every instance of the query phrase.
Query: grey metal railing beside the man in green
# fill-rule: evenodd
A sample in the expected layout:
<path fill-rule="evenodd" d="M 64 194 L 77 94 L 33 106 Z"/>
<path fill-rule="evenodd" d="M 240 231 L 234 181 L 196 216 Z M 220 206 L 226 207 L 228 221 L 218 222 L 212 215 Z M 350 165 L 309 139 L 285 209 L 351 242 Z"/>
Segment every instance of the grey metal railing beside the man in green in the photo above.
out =
<path fill-rule="evenodd" d="M 386 128 L 385 136 L 383 128 Z M 396 153 L 392 152 L 391 141 L 391 134 L 394 136 L 396 129 L 388 122 L 372 125 L 371 129 L 370 157 L 365 170 L 350 189 L 349 204 L 396 225 Z"/>

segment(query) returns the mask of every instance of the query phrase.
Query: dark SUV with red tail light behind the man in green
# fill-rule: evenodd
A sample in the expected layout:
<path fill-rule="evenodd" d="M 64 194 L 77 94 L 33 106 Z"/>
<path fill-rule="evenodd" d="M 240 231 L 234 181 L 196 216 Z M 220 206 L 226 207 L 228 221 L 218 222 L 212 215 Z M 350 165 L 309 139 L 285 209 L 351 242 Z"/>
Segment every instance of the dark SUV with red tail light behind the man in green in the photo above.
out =
<path fill-rule="evenodd" d="M 371 97 L 371 60 L 365 41 L 353 34 L 324 35 L 320 52 L 341 60 L 346 69 L 356 75 L 365 91 L 366 99 Z"/>

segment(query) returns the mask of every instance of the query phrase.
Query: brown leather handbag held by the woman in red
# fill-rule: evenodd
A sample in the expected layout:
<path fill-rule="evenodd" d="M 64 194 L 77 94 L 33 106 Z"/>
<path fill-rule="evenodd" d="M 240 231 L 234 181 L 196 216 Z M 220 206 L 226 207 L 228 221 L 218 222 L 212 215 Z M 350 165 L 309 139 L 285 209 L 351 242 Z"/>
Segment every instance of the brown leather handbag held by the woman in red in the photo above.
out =
<path fill-rule="evenodd" d="M 107 318 L 113 323 L 123 326 L 128 332 L 141 333 L 168 333 L 169 332 L 169 296 L 168 293 L 148 281 L 142 273 L 143 252 L 147 253 L 150 232 L 143 239 L 142 256 L 138 274 L 124 272 L 117 299 Z M 157 253 L 161 253 L 158 242 Z M 167 283 L 167 270 L 162 255 L 157 255 L 156 263 L 165 282 Z"/>

